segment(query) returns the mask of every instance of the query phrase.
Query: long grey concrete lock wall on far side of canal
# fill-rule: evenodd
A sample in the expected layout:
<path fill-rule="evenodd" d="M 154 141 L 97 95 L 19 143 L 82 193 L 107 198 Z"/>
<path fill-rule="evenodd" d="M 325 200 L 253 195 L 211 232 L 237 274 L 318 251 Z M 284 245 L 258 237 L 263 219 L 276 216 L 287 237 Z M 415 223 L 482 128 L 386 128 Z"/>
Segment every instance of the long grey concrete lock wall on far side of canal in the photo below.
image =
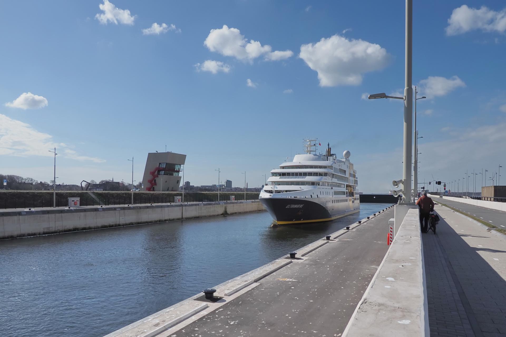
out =
<path fill-rule="evenodd" d="M 255 201 L 0 212 L 0 239 L 264 211 Z"/>

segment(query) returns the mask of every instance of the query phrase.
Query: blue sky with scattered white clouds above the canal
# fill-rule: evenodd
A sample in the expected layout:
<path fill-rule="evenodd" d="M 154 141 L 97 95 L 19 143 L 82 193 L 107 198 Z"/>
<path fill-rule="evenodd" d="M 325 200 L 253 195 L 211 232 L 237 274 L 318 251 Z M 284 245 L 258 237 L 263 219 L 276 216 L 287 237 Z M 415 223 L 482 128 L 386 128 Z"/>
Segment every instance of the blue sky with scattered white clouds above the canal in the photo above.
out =
<path fill-rule="evenodd" d="M 0 173 L 49 181 L 56 146 L 58 182 L 130 181 L 132 156 L 139 180 L 167 145 L 192 184 L 217 183 L 220 167 L 251 187 L 312 136 L 351 151 L 361 191 L 387 192 L 402 102 L 362 96 L 403 90 L 397 3 L 3 2 Z M 421 181 L 506 164 L 505 11 L 414 4 Z"/>

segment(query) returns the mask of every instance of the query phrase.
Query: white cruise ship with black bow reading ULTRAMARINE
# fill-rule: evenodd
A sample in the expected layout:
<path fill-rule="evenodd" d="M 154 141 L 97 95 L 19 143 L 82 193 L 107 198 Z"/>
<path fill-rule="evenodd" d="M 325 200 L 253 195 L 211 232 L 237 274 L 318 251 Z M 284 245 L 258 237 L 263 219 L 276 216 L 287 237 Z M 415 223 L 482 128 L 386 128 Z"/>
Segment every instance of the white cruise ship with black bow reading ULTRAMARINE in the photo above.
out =
<path fill-rule="evenodd" d="M 278 225 L 323 222 L 360 211 L 357 171 L 350 151 L 337 159 L 327 145 L 316 154 L 317 139 L 304 141 L 304 154 L 271 171 L 260 202 Z"/>

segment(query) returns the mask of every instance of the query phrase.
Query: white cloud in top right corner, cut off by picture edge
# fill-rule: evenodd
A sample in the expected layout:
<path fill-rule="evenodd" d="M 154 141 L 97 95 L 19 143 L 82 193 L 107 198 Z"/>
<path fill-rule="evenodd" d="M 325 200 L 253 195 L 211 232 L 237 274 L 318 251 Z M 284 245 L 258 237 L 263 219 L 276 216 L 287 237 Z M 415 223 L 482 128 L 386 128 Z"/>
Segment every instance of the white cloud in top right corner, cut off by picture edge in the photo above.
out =
<path fill-rule="evenodd" d="M 506 31 L 506 9 L 496 12 L 485 6 L 476 9 L 466 5 L 455 8 L 448 19 L 446 35 L 463 34 L 478 29 L 485 32 L 504 33 Z"/>

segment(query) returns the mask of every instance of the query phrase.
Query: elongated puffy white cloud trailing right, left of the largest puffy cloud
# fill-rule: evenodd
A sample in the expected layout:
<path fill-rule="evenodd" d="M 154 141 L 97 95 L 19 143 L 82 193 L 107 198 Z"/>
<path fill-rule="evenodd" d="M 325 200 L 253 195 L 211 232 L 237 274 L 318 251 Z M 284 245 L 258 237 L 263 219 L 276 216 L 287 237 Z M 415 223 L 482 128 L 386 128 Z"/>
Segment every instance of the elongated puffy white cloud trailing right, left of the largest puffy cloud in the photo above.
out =
<path fill-rule="evenodd" d="M 241 61 L 250 61 L 264 55 L 265 60 L 279 61 L 285 60 L 293 55 L 291 51 L 274 51 L 268 44 L 262 45 L 259 41 L 248 40 L 244 38 L 237 28 L 228 28 L 223 25 L 219 29 L 211 29 L 207 35 L 204 45 L 211 52 L 219 53 L 223 56 L 231 56 Z"/>

